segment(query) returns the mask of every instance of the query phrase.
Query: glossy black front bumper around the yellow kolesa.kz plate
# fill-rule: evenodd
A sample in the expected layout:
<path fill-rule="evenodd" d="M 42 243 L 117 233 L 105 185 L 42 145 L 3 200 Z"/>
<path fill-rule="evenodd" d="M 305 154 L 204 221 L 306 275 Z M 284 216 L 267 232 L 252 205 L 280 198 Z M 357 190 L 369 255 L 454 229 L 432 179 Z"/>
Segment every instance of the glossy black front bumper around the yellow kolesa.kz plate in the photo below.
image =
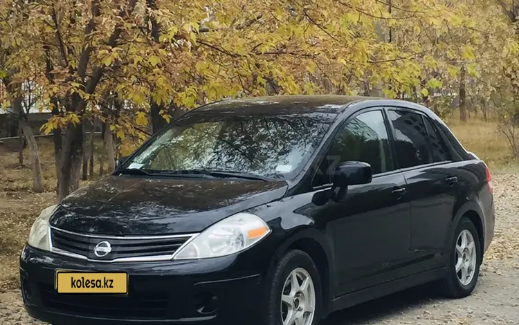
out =
<path fill-rule="evenodd" d="M 260 254 L 262 255 L 262 254 Z M 20 283 L 28 313 L 62 324 L 251 324 L 268 261 L 239 255 L 197 261 L 96 263 L 26 246 Z M 60 295 L 56 269 L 127 272 L 128 295 Z"/>

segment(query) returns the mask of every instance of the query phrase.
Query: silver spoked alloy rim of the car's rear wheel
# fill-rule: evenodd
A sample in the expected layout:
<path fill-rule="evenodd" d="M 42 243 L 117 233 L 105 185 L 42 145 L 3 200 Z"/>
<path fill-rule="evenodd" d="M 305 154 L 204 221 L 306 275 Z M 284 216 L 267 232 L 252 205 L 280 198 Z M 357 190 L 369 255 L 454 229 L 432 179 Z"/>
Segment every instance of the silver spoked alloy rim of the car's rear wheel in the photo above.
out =
<path fill-rule="evenodd" d="M 468 286 L 476 269 L 477 250 L 474 237 L 468 230 L 459 233 L 456 241 L 455 270 L 459 283 Z"/>

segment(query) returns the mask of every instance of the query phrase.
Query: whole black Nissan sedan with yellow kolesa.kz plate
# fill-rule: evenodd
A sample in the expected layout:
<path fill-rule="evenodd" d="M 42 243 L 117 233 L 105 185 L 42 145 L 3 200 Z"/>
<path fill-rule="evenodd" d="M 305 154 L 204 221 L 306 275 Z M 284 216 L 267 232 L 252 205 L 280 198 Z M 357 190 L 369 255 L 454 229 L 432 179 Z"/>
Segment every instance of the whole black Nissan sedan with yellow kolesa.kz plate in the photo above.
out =
<path fill-rule="evenodd" d="M 21 293 L 57 325 L 316 325 L 429 281 L 470 295 L 494 218 L 489 169 L 423 106 L 226 100 L 45 209 Z"/>

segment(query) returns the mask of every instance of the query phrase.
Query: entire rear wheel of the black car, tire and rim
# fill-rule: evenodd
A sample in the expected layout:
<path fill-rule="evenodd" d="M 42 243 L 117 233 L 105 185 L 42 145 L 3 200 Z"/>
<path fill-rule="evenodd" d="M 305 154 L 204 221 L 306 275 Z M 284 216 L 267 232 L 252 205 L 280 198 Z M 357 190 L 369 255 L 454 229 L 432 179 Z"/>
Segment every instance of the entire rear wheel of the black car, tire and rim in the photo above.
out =
<path fill-rule="evenodd" d="M 454 299 L 471 295 L 480 275 L 481 263 L 480 236 L 471 219 L 463 216 L 450 245 L 447 275 L 441 283 L 444 295 Z"/>

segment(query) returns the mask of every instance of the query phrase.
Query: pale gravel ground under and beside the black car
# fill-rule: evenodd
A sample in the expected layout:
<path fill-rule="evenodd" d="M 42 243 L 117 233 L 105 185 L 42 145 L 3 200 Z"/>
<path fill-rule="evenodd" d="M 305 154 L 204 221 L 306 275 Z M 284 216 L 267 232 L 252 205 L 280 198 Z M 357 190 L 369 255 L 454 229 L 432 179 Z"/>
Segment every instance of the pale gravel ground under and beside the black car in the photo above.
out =
<path fill-rule="evenodd" d="M 442 299 L 428 286 L 334 313 L 324 325 L 519 324 L 519 174 L 494 175 L 495 238 L 471 297 Z M 0 324 L 42 325 L 27 315 L 17 291 L 0 294 Z"/>

